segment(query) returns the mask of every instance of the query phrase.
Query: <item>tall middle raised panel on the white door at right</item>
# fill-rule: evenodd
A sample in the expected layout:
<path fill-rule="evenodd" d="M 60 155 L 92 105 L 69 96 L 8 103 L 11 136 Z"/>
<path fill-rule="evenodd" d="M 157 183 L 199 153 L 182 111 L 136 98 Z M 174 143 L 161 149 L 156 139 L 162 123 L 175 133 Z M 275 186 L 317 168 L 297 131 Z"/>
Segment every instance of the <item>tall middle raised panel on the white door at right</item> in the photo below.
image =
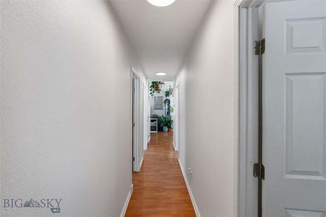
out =
<path fill-rule="evenodd" d="M 325 178 L 325 90 L 323 73 L 286 75 L 286 178 Z"/>

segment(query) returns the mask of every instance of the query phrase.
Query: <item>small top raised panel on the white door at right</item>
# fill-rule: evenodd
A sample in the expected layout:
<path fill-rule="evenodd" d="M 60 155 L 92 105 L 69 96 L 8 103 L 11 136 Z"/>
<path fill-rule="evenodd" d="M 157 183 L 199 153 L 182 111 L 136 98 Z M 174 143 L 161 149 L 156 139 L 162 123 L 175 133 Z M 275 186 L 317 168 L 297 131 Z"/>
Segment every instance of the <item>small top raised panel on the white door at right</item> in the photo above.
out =
<path fill-rule="evenodd" d="M 325 18 L 286 21 L 286 53 L 323 52 Z"/>

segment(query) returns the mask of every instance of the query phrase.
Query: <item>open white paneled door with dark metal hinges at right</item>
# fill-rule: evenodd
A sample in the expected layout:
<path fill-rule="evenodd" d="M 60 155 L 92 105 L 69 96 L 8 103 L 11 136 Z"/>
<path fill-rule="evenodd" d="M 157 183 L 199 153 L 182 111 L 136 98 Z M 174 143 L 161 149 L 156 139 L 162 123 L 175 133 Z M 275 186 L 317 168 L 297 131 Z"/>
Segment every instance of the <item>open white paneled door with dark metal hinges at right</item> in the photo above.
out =
<path fill-rule="evenodd" d="M 326 2 L 266 3 L 263 216 L 326 216 Z"/>

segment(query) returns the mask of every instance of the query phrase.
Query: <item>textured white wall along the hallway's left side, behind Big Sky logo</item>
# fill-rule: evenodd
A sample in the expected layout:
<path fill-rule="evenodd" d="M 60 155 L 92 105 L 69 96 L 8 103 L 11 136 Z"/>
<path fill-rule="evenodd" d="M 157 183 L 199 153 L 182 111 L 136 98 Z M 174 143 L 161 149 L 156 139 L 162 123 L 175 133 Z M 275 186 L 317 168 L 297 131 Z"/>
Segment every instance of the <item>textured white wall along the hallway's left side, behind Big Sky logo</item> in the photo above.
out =
<path fill-rule="evenodd" d="M 120 216 L 131 185 L 129 53 L 105 1 L 1 1 L 1 216 L 53 215 L 3 207 L 31 198 L 62 199 L 60 216 Z"/>

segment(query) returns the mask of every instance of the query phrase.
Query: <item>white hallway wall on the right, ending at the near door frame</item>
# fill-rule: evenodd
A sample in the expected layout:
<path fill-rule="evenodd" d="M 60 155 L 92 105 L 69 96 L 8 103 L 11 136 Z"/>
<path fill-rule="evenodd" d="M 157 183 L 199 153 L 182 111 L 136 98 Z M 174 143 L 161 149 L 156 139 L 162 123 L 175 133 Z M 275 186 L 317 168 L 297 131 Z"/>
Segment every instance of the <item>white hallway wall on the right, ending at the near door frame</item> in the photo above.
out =
<path fill-rule="evenodd" d="M 233 1 L 213 1 L 175 83 L 179 156 L 201 216 L 233 216 Z"/>

